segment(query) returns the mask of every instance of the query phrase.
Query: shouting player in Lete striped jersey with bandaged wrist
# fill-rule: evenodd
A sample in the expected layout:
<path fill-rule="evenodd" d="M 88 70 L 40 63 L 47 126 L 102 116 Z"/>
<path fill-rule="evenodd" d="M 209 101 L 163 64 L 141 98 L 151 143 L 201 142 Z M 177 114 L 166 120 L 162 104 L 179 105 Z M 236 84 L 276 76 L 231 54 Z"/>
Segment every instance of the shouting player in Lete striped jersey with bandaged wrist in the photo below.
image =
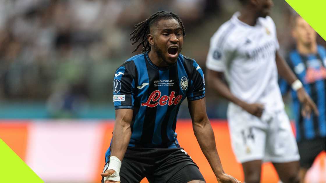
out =
<path fill-rule="evenodd" d="M 195 60 L 180 54 L 185 38 L 181 19 L 159 11 L 135 25 L 136 51 L 115 73 L 115 125 L 102 183 L 203 183 L 199 168 L 180 147 L 176 130 L 181 102 L 187 98 L 193 130 L 219 182 L 239 182 L 224 173 L 205 107 L 205 80 Z"/>

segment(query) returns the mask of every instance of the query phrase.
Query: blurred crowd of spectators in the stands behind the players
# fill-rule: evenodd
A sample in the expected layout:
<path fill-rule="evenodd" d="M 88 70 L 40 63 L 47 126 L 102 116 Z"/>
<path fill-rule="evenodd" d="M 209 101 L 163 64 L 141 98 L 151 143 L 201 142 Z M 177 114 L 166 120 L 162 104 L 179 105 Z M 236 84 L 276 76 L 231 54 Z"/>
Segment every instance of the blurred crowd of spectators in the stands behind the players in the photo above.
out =
<path fill-rule="evenodd" d="M 274 4 L 286 53 L 292 10 L 285 1 Z M 0 99 L 47 101 L 53 112 L 111 102 L 114 71 L 134 55 L 133 25 L 159 10 L 181 17 L 183 54 L 204 68 L 210 37 L 238 7 L 238 0 L 2 0 Z"/>

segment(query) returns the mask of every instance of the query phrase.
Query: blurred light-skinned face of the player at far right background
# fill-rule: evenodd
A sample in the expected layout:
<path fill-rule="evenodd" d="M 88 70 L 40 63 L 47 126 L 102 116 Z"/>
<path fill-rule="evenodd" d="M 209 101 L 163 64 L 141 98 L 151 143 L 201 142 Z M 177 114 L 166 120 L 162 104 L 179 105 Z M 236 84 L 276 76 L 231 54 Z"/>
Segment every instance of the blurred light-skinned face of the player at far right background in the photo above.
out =
<path fill-rule="evenodd" d="M 316 43 L 316 31 L 302 18 L 296 18 L 296 25 L 292 35 L 298 44 L 314 44 Z"/>

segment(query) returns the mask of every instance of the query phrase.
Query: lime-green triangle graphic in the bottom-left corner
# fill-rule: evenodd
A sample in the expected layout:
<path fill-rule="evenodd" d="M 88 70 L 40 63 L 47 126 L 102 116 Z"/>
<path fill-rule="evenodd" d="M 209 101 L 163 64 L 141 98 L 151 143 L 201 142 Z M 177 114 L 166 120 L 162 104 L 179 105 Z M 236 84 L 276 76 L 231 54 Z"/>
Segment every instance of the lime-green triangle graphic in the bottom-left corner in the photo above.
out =
<path fill-rule="evenodd" d="M 0 139 L 0 182 L 44 183 L 2 139 Z"/>

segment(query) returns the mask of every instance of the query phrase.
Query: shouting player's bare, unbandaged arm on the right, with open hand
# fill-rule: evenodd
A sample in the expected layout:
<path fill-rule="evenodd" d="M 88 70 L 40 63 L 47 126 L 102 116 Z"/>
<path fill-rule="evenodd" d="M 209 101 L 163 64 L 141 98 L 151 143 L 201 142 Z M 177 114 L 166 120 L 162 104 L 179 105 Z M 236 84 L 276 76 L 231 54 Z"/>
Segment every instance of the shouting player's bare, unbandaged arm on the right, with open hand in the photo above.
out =
<path fill-rule="evenodd" d="M 219 182 L 238 182 L 232 176 L 224 173 L 215 145 L 215 136 L 206 114 L 205 98 L 188 101 L 188 108 L 192 119 L 192 127 L 200 149 L 212 167 Z"/>

